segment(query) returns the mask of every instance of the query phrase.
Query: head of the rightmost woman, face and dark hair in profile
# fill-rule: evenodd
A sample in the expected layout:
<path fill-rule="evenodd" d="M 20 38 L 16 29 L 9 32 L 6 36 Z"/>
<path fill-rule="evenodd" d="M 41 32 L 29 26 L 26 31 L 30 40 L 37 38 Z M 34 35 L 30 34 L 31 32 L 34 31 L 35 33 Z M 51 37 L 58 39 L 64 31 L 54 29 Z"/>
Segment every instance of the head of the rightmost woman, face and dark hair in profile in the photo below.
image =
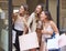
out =
<path fill-rule="evenodd" d="M 40 17 L 41 17 L 42 21 L 43 20 L 44 21 L 51 21 L 51 20 L 53 20 L 50 11 L 42 11 Z"/>

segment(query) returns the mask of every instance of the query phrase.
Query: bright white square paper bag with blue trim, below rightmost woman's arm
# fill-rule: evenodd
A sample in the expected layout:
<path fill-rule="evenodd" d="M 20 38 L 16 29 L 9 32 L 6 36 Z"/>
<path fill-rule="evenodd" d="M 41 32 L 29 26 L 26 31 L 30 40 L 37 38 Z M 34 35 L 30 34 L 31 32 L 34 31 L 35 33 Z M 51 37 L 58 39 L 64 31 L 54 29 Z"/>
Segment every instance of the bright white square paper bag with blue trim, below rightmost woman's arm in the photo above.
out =
<path fill-rule="evenodd" d="M 58 49 L 58 41 L 56 39 L 47 40 L 47 49 Z"/>

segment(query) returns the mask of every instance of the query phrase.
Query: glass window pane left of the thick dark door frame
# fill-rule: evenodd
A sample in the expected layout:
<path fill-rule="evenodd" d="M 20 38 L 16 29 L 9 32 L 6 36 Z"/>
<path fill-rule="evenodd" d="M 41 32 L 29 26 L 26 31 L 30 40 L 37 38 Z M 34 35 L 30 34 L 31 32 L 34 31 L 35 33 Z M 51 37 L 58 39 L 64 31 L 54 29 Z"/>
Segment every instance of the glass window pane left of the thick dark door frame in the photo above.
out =
<path fill-rule="evenodd" d="M 0 51 L 9 49 L 8 0 L 0 0 Z"/>

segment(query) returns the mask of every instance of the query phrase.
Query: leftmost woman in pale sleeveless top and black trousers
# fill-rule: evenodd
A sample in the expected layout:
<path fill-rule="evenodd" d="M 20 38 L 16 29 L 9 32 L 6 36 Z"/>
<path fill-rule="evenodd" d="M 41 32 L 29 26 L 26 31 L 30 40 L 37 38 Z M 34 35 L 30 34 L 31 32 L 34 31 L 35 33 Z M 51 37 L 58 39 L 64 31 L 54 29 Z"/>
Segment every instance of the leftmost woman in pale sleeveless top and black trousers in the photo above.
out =
<path fill-rule="evenodd" d="M 22 4 L 19 12 L 15 13 L 12 18 L 13 20 L 13 30 L 16 32 L 14 47 L 16 51 L 20 51 L 19 35 L 22 35 L 23 32 L 28 29 L 28 23 L 25 18 L 28 17 L 28 6 Z"/>

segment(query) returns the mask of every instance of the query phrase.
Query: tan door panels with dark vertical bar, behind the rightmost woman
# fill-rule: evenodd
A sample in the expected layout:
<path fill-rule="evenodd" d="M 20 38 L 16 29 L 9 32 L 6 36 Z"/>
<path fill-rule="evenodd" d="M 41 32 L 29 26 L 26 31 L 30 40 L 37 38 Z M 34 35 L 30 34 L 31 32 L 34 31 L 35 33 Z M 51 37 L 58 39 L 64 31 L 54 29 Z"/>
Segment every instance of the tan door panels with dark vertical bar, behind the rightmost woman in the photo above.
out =
<path fill-rule="evenodd" d="M 48 0 L 48 10 L 59 32 L 66 33 L 66 0 Z"/>

